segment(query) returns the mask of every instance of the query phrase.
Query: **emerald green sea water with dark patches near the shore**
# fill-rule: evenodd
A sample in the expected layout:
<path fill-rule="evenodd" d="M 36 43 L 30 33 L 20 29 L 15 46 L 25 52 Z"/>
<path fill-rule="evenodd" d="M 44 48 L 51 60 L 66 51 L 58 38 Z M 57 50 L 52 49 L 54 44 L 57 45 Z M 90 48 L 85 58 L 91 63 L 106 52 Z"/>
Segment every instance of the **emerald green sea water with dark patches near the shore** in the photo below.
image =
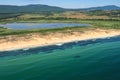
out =
<path fill-rule="evenodd" d="M 0 52 L 0 80 L 120 80 L 120 37 Z"/>

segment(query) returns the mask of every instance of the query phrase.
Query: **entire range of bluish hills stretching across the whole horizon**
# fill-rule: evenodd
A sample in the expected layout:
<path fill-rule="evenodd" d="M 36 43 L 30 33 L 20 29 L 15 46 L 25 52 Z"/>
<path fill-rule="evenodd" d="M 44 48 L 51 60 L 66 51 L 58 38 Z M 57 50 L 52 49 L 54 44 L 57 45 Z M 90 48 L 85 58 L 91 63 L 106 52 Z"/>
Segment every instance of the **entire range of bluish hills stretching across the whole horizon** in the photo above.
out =
<path fill-rule="evenodd" d="M 65 9 L 56 6 L 48 5 L 25 5 L 25 6 L 13 6 L 13 5 L 0 5 L 0 13 L 39 13 L 39 12 L 49 12 L 49 11 L 80 11 L 80 10 L 120 10 L 120 7 L 115 5 L 108 5 L 102 7 L 91 7 L 91 8 L 81 8 L 81 9 Z"/>

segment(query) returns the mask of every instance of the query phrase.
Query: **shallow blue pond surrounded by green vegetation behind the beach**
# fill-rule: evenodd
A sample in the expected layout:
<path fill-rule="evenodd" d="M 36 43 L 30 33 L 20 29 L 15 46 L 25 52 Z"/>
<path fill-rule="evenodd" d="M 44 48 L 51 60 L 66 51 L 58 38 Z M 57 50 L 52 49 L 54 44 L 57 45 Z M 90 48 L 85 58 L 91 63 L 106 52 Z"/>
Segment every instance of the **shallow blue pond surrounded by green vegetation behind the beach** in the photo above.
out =
<path fill-rule="evenodd" d="M 34 29 L 34 28 L 62 28 L 62 27 L 88 27 L 90 24 L 80 23 L 7 23 L 2 26 L 11 29 Z"/>

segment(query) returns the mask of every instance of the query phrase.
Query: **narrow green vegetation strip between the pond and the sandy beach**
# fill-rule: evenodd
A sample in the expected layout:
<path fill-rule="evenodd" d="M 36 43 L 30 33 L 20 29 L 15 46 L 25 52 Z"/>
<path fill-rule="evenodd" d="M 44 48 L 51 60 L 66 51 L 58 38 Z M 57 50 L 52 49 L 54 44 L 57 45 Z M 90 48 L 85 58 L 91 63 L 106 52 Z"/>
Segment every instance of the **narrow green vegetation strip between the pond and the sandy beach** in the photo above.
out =
<path fill-rule="evenodd" d="M 88 28 L 88 27 L 86 27 Z M 83 27 L 64 27 L 64 28 L 51 28 L 51 29 L 29 29 L 29 30 L 12 30 L 12 29 L 0 29 L 0 36 L 7 35 L 23 35 L 29 33 L 41 33 L 41 34 L 49 34 L 54 32 L 65 32 L 67 30 L 78 30 L 78 29 L 86 29 Z"/>

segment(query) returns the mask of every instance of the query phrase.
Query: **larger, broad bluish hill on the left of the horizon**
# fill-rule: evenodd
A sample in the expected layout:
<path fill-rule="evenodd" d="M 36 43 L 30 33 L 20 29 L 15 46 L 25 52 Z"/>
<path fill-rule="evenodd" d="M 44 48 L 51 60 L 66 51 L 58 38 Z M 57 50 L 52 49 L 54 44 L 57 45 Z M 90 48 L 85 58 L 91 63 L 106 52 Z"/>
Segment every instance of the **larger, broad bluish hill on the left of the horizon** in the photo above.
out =
<path fill-rule="evenodd" d="M 26 6 L 12 6 L 0 5 L 0 13 L 32 13 L 43 11 L 64 11 L 64 8 L 48 6 L 48 5 L 26 5 Z"/>

